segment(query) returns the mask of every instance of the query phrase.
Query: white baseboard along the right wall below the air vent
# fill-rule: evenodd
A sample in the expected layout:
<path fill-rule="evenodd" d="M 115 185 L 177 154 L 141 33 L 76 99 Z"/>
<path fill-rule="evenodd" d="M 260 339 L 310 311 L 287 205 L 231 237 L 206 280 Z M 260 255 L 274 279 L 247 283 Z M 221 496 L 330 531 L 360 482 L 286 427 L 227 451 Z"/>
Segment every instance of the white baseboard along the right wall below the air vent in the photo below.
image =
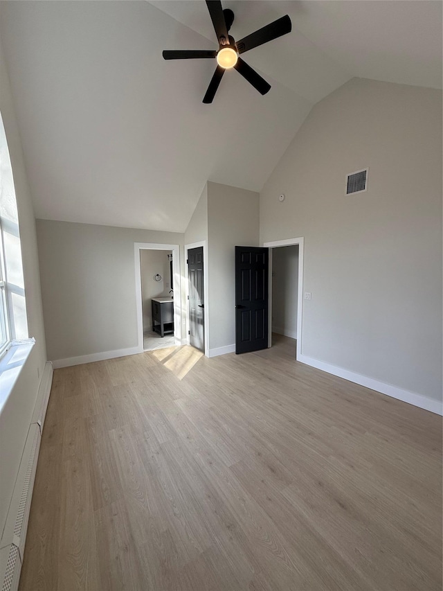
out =
<path fill-rule="evenodd" d="M 428 396 L 422 396 L 422 394 L 415 394 L 415 392 L 410 392 L 397 386 L 392 386 L 385 382 L 368 378 L 367 376 L 362 376 L 360 373 L 355 373 L 354 371 L 343 369 L 343 367 L 338 367 L 336 365 L 319 361 L 318 359 L 307 357 L 307 355 L 299 355 L 297 361 L 315 367 L 316 369 L 321 369 L 327 373 L 332 373 L 333 376 L 349 380 L 350 382 L 365 386 L 366 388 L 370 388 L 381 394 L 386 394 L 386 396 L 390 396 L 391 398 L 397 398 L 397 400 L 402 400 L 413 406 L 423 408 L 430 412 L 434 412 L 435 414 L 443 415 L 442 403 L 439 400 L 434 400 Z"/>

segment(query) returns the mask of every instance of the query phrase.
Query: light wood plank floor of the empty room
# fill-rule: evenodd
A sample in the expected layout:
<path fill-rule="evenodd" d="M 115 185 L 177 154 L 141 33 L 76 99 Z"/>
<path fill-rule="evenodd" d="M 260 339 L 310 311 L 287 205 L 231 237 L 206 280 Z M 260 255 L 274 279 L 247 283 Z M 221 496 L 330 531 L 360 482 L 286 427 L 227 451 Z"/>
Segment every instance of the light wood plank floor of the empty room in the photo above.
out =
<path fill-rule="evenodd" d="M 441 418 L 275 339 L 57 369 L 21 591 L 441 591 Z"/>

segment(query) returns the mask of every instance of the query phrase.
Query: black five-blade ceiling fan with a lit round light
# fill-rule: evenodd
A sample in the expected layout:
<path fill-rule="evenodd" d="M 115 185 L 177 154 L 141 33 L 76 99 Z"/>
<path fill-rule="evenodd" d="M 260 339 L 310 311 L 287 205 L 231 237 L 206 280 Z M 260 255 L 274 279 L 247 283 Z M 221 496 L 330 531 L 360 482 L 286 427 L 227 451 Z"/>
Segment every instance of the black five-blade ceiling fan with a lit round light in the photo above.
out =
<path fill-rule="evenodd" d="M 216 58 L 217 68 L 215 69 L 214 76 L 209 83 L 208 90 L 204 96 L 204 103 L 212 103 L 217 88 L 219 87 L 221 78 L 224 75 L 226 69 L 234 68 L 238 73 L 242 74 L 243 78 L 246 78 L 248 82 L 253 85 L 260 94 L 266 94 L 271 88 L 271 85 L 260 76 L 255 70 L 253 70 L 242 58 L 240 54 L 245 51 L 249 51 L 254 47 L 277 39 L 282 35 L 286 35 L 291 31 L 291 19 L 288 15 L 273 21 L 269 25 L 264 26 L 243 37 L 239 41 L 235 42 L 235 39 L 228 35 L 228 30 L 233 24 L 234 13 L 229 8 L 221 8 L 220 0 L 206 0 L 206 6 L 208 6 L 210 18 L 213 21 L 215 28 L 215 34 L 219 42 L 218 51 L 210 50 L 165 50 L 163 51 L 163 58 L 165 60 L 192 60 L 195 58 Z"/>

